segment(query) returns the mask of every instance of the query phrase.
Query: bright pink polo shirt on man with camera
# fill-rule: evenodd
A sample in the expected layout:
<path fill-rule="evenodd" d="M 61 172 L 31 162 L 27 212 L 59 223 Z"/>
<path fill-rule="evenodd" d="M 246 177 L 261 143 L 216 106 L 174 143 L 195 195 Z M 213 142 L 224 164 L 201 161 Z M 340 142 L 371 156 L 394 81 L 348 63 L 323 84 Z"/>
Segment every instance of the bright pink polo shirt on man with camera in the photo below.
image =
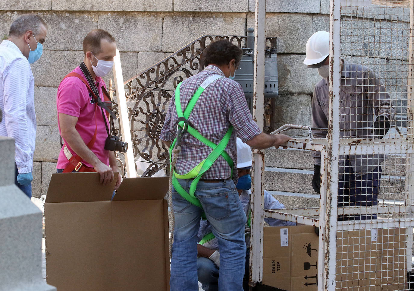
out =
<path fill-rule="evenodd" d="M 72 73 L 78 73 L 86 80 L 79 66 L 73 70 Z M 103 100 L 102 86 L 104 86 L 106 89 L 105 82 L 103 82 L 102 78 L 100 77 L 96 77 L 95 80 L 99 96 Z M 87 86 L 82 82 L 82 80 L 77 77 L 65 78 L 59 85 L 58 95 L 56 97 L 56 105 L 58 107 L 59 133 L 59 113 L 76 116 L 78 118 L 76 130 L 79 132 L 84 143 L 88 144 L 89 141 L 91 141 L 92 136 L 94 136 L 95 132 L 96 104 L 91 92 L 89 92 Z M 103 112 L 105 112 L 105 110 Z M 96 157 L 98 157 L 99 160 L 101 160 L 101 162 L 109 165 L 109 151 L 104 149 L 105 141 L 108 137 L 104 122 L 108 124 L 109 128 L 108 117 L 105 114 L 105 121 L 103 121 L 101 108 L 98 107 L 98 110 L 96 110 L 96 123 L 98 125 L 98 132 L 96 134 L 96 141 L 92 146 L 91 151 L 96 155 Z M 67 165 L 69 165 L 69 160 L 63 152 L 63 148 L 59 153 L 58 165 L 56 166 L 57 169 L 64 169 Z M 75 152 L 72 150 L 72 148 L 70 148 L 69 145 L 67 145 L 67 148 L 70 150 L 70 153 L 72 153 L 72 155 L 75 155 Z M 87 167 L 92 167 L 92 165 L 87 162 L 84 162 L 84 164 Z"/>

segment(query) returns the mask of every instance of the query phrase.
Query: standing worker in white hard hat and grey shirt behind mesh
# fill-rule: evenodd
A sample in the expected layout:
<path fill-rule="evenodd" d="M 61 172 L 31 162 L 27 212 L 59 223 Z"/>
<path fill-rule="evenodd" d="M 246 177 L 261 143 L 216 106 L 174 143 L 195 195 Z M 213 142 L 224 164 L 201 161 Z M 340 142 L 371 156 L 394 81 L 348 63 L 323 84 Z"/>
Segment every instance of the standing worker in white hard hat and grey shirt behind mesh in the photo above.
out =
<path fill-rule="evenodd" d="M 322 80 L 315 86 L 312 99 L 312 134 L 325 138 L 329 113 L 329 32 L 315 32 L 306 43 L 308 68 L 318 69 Z M 390 95 L 380 78 L 364 65 L 341 63 L 339 128 L 341 138 L 383 138 L 395 118 Z M 339 157 L 338 206 L 378 205 L 381 179 L 380 163 L 384 155 L 344 155 Z M 320 153 L 313 153 L 315 172 L 312 186 L 320 192 Z M 370 219 L 373 216 L 339 216 L 339 220 Z"/>

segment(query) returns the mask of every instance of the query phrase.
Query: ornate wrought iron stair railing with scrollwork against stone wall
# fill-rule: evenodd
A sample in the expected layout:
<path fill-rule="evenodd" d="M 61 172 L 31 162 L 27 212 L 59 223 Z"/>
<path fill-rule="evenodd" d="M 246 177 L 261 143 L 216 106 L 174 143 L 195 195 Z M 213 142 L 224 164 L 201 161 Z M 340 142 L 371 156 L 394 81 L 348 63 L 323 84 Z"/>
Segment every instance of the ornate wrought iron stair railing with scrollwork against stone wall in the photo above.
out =
<path fill-rule="evenodd" d="M 202 51 L 214 40 L 227 39 L 238 47 L 246 47 L 247 36 L 203 35 L 183 46 L 151 68 L 125 81 L 128 119 L 132 136 L 134 159 L 147 163 L 141 176 L 152 176 L 168 165 L 168 148 L 159 135 L 164 124 L 164 112 L 178 83 L 204 69 Z M 276 38 L 267 38 L 268 49 L 276 46 Z M 116 94 L 114 111 L 118 114 Z M 265 102 L 265 131 L 272 131 L 273 99 Z M 122 133 L 118 131 L 118 135 Z M 125 173 L 123 153 L 117 153 Z"/>

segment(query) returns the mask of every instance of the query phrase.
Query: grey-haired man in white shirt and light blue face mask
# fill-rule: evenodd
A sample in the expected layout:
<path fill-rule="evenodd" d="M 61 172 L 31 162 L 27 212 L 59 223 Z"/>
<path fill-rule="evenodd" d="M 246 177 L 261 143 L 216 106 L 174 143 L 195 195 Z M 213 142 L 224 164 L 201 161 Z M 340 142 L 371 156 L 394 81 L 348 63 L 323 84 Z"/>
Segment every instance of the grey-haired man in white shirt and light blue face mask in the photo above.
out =
<path fill-rule="evenodd" d="M 9 38 L 0 44 L 0 136 L 14 138 L 15 184 L 31 197 L 36 140 L 34 78 L 30 64 L 42 55 L 47 25 L 36 14 L 17 17 Z"/>

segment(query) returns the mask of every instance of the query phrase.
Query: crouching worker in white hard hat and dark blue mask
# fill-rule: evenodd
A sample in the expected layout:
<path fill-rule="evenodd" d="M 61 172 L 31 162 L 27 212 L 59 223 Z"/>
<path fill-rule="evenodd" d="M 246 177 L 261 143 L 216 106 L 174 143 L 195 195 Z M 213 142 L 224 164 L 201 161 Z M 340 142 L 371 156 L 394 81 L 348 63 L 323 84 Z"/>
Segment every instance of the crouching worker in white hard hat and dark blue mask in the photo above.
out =
<path fill-rule="evenodd" d="M 239 195 L 239 203 L 244 209 L 248 221 L 245 226 L 246 246 L 250 246 L 250 194 L 251 183 L 250 169 L 252 167 L 252 150 L 250 146 L 243 143 L 240 138 L 237 138 L 237 172 L 238 182 L 236 189 Z M 265 209 L 283 209 L 284 205 L 274 199 L 274 197 L 265 190 Z M 265 221 L 270 226 L 292 226 L 296 225 L 294 222 L 283 221 L 274 218 L 265 218 Z M 202 289 L 205 291 L 219 290 L 219 270 L 220 270 L 220 251 L 219 240 L 212 234 L 212 226 L 208 221 L 200 222 L 200 229 L 197 235 L 197 276 L 202 284 Z M 246 263 L 240 266 L 245 269 L 243 279 L 243 289 L 249 290 L 249 258 L 250 249 L 246 247 Z"/>

